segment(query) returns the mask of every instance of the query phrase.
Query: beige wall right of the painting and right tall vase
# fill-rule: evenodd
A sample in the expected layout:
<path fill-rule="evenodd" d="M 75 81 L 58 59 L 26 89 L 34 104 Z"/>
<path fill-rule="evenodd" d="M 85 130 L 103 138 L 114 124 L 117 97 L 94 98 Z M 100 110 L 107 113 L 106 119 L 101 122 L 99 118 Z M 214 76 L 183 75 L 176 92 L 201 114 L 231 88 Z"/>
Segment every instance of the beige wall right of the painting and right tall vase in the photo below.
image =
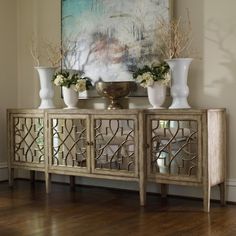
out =
<path fill-rule="evenodd" d="M 236 179 L 236 1 L 177 0 L 176 15 L 190 10 L 194 47 L 201 60 L 192 64 L 190 103 L 225 107 L 228 113 L 228 178 Z"/>

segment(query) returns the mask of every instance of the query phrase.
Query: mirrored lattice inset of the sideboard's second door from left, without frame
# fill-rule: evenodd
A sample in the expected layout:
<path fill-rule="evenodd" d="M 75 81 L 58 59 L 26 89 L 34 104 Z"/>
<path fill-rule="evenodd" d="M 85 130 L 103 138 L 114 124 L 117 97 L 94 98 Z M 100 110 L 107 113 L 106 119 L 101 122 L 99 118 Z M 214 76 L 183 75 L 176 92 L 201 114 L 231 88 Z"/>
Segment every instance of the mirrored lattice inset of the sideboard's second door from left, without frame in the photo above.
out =
<path fill-rule="evenodd" d="M 51 119 L 52 159 L 54 166 L 87 166 L 87 124 L 85 119 Z"/>

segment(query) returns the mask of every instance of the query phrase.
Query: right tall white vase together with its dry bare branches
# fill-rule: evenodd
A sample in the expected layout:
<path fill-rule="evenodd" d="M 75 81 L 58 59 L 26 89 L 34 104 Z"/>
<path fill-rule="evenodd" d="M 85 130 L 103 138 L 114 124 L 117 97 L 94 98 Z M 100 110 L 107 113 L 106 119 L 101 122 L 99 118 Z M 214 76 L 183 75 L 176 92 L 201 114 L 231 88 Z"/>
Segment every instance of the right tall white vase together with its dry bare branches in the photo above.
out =
<path fill-rule="evenodd" d="M 192 43 L 189 12 L 187 10 L 186 21 L 182 21 L 179 17 L 168 22 L 160 20 L 158 24 L 156 47 L 171 71 L 172 104 L 169 108 L 190 108 L 187 101 L 189 95 L 188 70 L 192 62 L 192 56 L 189 57 Z"/>

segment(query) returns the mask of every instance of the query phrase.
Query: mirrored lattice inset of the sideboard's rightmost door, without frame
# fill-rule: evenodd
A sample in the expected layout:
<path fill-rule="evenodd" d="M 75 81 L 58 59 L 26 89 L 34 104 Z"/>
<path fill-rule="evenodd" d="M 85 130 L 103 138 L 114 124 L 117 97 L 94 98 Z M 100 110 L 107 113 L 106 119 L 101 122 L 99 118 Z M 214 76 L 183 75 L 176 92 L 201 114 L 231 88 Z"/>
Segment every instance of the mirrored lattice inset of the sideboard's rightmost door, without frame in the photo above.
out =
<path fill-rule="evenodd" d="M 197 121 L 151 120 L 151 128 L 151 173 L 197 175 Z"/>

